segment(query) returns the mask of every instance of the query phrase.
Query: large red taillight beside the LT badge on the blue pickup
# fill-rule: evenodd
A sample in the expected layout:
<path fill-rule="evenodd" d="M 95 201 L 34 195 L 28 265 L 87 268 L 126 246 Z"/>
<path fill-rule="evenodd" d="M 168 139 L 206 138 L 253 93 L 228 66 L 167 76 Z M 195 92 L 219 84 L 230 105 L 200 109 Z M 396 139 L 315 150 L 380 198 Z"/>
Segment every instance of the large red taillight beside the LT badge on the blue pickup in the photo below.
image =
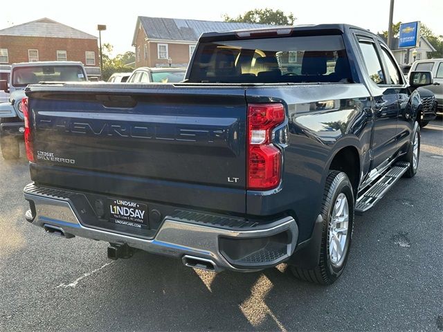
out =
<path fill-rule="evenodd" d="M 270 190 L 280 183 L 282 155 L 272 144 L 272 131 L 283 121 L 280 103 L 248 104 L 248 190 Z"/>

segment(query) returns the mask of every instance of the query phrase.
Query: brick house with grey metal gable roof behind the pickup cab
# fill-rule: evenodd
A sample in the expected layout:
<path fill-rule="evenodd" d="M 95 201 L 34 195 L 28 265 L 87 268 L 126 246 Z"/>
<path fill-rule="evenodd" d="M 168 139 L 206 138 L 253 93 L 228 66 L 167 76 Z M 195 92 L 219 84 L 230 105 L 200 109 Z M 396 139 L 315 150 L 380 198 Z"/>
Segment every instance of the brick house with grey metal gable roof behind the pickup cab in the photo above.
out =
<path fill-rule="evenodd" d="M 186 67 L 202 33 L 264 27 L 264 24 L 139 16 L 132 39 L 136 67 L 168 66 L 168 59 L 174 67 Z"/>

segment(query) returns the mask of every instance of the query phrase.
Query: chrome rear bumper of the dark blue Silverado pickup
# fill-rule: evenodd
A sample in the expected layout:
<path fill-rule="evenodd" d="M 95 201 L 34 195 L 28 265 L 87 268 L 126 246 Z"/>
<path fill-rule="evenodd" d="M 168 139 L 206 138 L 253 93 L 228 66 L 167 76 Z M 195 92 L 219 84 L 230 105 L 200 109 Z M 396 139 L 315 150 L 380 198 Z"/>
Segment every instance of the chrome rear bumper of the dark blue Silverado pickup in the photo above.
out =
<path fill-rule="evenodd" d="M 26 213 L 26 219 L 33 225 L 46 230 L 55 226 L 66 238 L 76 236 L 109 243 L 126 243 L 132 248 L 178 259 L 183 259 L 185 256 L 199 257 L 212 262 L 216 271 L 228 269 L 248 272 L 276 266 L 292 255 L 298 239 L 298 227 L 291 216 L 253 230 L 229 230 L 183 222 L 172 216 L 165 216 L 153 239 L 141 239 L 86 227 L 76 213 L 69 195 L 37 194 L 35 186 L 34 190 L 27 190 L 29 186 L 24 190 L 24 197 L 31 206 L 30 211 Z M 253 241 L 258 241 L 258 246 L 261 247 L 257 248 L 256 244 L 251 245 Z M 239 252 L 244 251 L 244 246 L 253 248 L 251 249 L 253 252 L 242 257 L 233 249 L 235 246 L 239 248 L 243 246 Z"/>

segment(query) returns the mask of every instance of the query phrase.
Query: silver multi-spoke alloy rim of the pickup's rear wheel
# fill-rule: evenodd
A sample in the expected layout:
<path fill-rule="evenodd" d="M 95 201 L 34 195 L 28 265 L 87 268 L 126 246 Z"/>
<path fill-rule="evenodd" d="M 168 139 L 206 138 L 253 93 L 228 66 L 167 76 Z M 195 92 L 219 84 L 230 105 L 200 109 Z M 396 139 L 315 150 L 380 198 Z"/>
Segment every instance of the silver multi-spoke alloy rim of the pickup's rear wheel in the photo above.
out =
<path fill-rule="evenodd" d="M 329 259 L 333 266 L 343 264 L 348 225 L 349 205 L 346 195 L 341 193 L 337 196 L 329 223 Z"/>

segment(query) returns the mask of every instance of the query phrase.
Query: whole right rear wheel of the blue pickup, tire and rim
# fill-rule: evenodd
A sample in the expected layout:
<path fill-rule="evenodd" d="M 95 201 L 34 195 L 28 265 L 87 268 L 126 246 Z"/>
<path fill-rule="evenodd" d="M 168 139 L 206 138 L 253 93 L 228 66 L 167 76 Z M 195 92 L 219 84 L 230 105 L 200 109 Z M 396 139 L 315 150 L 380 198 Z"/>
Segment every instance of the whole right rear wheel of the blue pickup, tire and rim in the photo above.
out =
<path fill-rule="evenodd" d="M 345 268 L 354 224 L 354 194 L 345 173 L 329 172 L 321 215 L 323 230 L 318 266 L 311 270 L 291 266 L 291 270 L 298 279 L 332 284 Z"/>

